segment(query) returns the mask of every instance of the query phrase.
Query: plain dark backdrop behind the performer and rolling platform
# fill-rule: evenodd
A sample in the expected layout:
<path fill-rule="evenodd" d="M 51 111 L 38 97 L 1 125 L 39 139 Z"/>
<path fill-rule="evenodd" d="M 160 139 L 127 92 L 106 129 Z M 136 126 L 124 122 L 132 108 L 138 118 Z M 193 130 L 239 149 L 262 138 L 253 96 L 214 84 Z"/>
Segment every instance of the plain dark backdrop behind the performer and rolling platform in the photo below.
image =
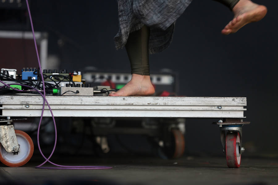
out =
<path fill-rule="evenodd" d="M 193 0 L 176 22 L 170 47 L 150 55 L 150 70 L 179 72 L 179 95 L 247 97 L 245 121 L 251 125 L 243 127 L 246 153 L 277 157 L 278 1 L 254 2 L 267 6 L 266 17 L 225 36 L 221 30 L 233 18 L 232 12 L 214 1 Z M 59 56 L 60 68 L 130 71 L 125 49 L 114 47 L 116 1 L 49 0 L 30 5 L 34 29 L 48 32 L 48 54 Z M 217 120 L 187 120 L 189 151 L 221 152 L 213 121 Z"/>

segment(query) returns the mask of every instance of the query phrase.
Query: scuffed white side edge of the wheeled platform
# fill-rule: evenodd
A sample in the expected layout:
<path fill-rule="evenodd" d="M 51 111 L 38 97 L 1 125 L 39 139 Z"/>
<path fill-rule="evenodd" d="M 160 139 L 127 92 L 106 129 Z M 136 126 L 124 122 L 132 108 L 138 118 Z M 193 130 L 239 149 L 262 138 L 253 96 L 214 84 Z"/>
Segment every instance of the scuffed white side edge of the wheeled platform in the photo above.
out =
<path fill-rule="evenodd" d="M 246 97 L 76 97 L 47 96 L 55 117 L 245 118 Z M 0 96 L 0 116 L 39 117 L 43 98 Z M 45 105 L 44 117 L 51 113 Z"/>

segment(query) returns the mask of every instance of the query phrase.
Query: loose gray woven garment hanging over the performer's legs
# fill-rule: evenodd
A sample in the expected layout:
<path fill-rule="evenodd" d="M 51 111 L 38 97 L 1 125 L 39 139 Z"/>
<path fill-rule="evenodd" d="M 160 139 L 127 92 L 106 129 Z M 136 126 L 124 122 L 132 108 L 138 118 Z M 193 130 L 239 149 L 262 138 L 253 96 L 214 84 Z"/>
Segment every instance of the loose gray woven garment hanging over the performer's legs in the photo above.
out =
<path fill-rule="evenodd" d="M 149 52 L 166 49 L 172 41 L 175 21 L 192 0 L 118 0 L 119 32 L 116 49 L 123 48 L 128 35 L 144 24 L 150 27 Z"/>

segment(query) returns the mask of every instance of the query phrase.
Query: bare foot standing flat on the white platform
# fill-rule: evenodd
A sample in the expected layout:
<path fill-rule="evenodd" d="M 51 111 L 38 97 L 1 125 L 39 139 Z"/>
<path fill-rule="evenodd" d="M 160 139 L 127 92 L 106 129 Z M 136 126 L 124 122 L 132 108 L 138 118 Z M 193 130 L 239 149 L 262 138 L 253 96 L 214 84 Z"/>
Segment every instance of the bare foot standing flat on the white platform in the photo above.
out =
<path fill-rule="evenodd" d="M 132 74 L 131 80 L 117 92 L 109 96 L 150 96 L 154 94 L 154 86 L 150 76 Z"/>

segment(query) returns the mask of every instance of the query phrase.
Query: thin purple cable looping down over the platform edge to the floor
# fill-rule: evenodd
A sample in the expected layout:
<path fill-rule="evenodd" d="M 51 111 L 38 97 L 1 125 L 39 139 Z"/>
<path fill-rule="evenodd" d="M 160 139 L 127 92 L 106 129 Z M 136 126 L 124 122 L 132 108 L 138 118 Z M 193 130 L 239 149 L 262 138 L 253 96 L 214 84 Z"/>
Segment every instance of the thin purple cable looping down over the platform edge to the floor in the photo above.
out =
<path fill-rule="evenodd" d="M 56 128 L 56 122 L 55 122 L 55 118 L 54 118 L 54 115 L 53 115 L 53 112 L 52 112 L 52 109 L 50 108 L 50 105 L 48 103 L 48 101 L 46 100 L 46 97 L 45 97 L 45 86 L 44 86 L 44 77 L 43 77 L 43 74 L 42 74 L 42 70 L 41 70 L 41 65 L 40 65 L 40 57 L 39 57 L 39 52 L 38 52 L 38 48 L 37 48 L 37 44 L 36 44 L 36 38 L 35 38 L 35 33 L 34 33 L 34 27 L 33 27 L 33 23 L 32 23 L 32 17 L 31 17 L 31 12 L 30 12 L 30 8 L 29 8 L 29 4 L 28 4 L 28 0 L 26 0 L 26 4 L 27 4 L 27 9 L 28 9 L 28 13 L 29 13 L 29 18 L 30 18 L 30 23 L 31 23 L 31 27 L 32 27 L 32 33 L 33 33 L 33 38 L 34 38 L 34 43 L 35 43 L 35 48 L 36 48 L 36 54 L 37 54 L 37 58 L 38 58 L 38 63 L 39 63 L 39 69 L 40 69 L 40 75 L 41 75 L 41 79 L 42 79 L 42 83 L 43 83 L 43 93 L 42 94 L 38 89 L 36 88 L 33 88 L 31 86 L 28 86 L 28 85 L 24 85 L 24 84 L 19 84 L 21 86 L 24 86 L 24 87 L 28 87 L 28 88 L 32 88 L 34 90 L 36 90 L 37 92 L 39 92 L 39 94 L 43 97 L 44 99 L 44 102 L 43 102 L 43 107 L 42 107 L 42 112 L 41 112 L 41 116 L 40 116 L 40 122 L 39 122 L 39 125 L 38 125 L 38 134 L 37 134 L 37 140 L 38 140 L 38 147 L 39 147 L 39 150 L 40 150 L 40 154 L 43 156 L 43 158 L 45 159 L 45 161 L 40 164 L 39 166 L 37 166 L 36 168 L 43 168 L 43 169 L 86 169 L 86 170 L 90 170 L 90 169 L 111 169 L 112 167 L 103 167 L 103 166 L 64 166 L 64 165 L 58 165 L 58 164 L 55 164 L 51 161 L 49 161 L 49 159 L 52 157 L 53 153 L 54 153 L 54 150 L 56 148 L 56 143 L 57 143 L 57 128 Z M 2 84 L 4 84 L 4 86 L 7 86 L 9 88 L 12 88 L 10 87 L 8 84 L 5 84 L 3 81 L 0 80 L 0 82 Z M 12 84 L 11 84 L 12 85 Z M 2 87 L 1 87 L 2 88 Z M 15 89 L 15 88 L 12 88 L 14 90 L 17 90 L 17 91 L 21 91 L 23 92 L 23 90 L 18 90 L 18 89 Z M 53 124 L 54 124 L 54 129 L 55 129 L 55 142 L 54 142 L 54 146 L 53 146 L 53 150 L 51 152 L 51 154 L 49 155 L 48 158 L 46 158 L 43 154 L 43 152 L 41 151 L 40 149 L 40 141 L 39 141 L 39 133 L 40 133 L 40 125 L 41 125 L 41 121 L 42 121 L 42 117 L 43 117 L 43 114 L 44 114 L 44 106 L 45 106 L 45 102 L 49 108 L 49 111 L 51 113 L 51 116 L 53 118 Z M 41 167 L 42 165 L 44 165 L 46 162 L 49 162 L 57 167 Z"/>

